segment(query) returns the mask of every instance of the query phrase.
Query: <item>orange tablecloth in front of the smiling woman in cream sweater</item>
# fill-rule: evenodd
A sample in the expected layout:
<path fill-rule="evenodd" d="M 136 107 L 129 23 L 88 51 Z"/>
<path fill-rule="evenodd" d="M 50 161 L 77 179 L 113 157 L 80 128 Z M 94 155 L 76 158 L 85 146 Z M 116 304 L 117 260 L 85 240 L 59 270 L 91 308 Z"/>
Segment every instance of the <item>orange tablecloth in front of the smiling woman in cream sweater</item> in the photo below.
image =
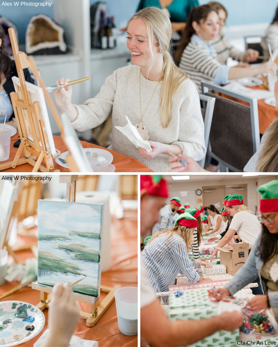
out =
<path fill-rule="evenodd" d="M 54 138 L 54 143 L 55 143 L 55 148 L 59 150 L 61 153 L 67 151 L 67 148 L 62 140 L 62 137 L 60 136 L 53 136 Z M 14 147 L 14 143 L 18 139 L 18 132 L 11 137 L 11 145 L 10 145 L 10 158 L 6 161 L 1 161 L 1 163 L 6 163 L 9 161 L 12 161 L 16 155 L 17 148 Z M 115 165 L 116 170 L 115 172 L 152 172 L 151 169 L 149 169 L 147 166 L 144 164 L 140 163 L 140 161 L 134 159 L 134 158 L 129 158 L 126 155 L 117 153 L 112 150 L 108 150 L 104 147 L 100 147 L 97 145 L 93 145 L 92 143 L 81 141 L 81 144 L 83 148 L 102 148 L 105 149 L 113 154 L 113 161 L 112 164 Z M 24 155 L 22 154 L 20 157 L 24 158 Z M 55 160 L 54 162 L 54 169 L 55 170 L 60 170 L 61 172 L 70 172 L 70 170 L 64 168 L 63 166 L 60 166 L 59 164 L 56 163 Z M 33 166 L 30 164 L 22 164 L 18 165 L 15 169 L 9 168 L 6 170 L 2 170 L 1 172 L 31 172 L 33 169 Z"/>

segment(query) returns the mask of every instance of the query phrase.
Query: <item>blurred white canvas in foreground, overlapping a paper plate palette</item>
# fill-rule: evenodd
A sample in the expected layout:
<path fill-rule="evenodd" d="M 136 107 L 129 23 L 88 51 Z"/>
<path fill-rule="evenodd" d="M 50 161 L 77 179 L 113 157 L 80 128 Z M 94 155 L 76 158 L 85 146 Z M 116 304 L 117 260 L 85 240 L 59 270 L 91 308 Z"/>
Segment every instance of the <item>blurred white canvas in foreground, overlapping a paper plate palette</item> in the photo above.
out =
<path fill-rule="evenodd" d="M 61 120 L 64 129 L 64 141 L 72 155 L 72 158 L 79 172 L 94 172 L 66 113 L 62 113 Z"/>

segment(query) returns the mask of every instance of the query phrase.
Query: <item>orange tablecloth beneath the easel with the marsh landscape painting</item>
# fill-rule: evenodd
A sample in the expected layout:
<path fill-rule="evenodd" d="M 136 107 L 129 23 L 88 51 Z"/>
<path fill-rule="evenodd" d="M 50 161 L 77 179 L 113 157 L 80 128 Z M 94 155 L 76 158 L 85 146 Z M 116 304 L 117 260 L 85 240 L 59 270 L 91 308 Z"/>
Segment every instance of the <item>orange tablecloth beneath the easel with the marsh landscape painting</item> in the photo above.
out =
<path fill-rule="evenodd" d="M 128 218 L 120 220 L 112 218 L 111 255 L 113 264 L 109 271 L 101 273 L 101 285 L 113 287 L 116 284 L 120 284 L 123 287 L 137 287 L 137 211 L 129 213 L 132 213 L 132 215 L 129 215 Z M 25 239 L 25 242 L 29 241 Z M 31 239 L 31 241 L 34 241 L 34 239 Z M 16 252 L 16 254 L 19 261 L 34 257 L 31 251 Z M 17 285 L 18 282 L 14 281 L 0 286 L 0 295 Z M 105 294 L 101 294 L 100 301 L 104 297 Z M 19 300 L 36 305 L 40 301 L 40 292 L 26 287 L 1 301 L 6 300 Z M 89 304 L 79 303 L 79 305 L 81 311 L 89 312 Z M 42 331 L 33 339 L 18 346 L 33 346 L 35 341 L 48 328 L 48 309 L 43 310 L 43 313 L 46 318 L 46 324 Z M 120 332 L 117 323 L 115 301 L 108 307 L 94 327 L 87 327 L 85 319 L 79 319 L 74 335 L 82 339 L 98 341 L 99 346 L 138 346 L 137 335 L 126 336 Z"/>

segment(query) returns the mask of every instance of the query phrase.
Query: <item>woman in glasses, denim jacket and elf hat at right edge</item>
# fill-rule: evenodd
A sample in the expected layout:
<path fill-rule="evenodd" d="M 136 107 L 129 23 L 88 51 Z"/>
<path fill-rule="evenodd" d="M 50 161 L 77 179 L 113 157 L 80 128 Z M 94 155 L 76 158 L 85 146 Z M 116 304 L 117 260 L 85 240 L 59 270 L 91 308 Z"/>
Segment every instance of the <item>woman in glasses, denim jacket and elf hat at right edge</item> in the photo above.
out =
<path fill-rule="evenodd" d="M 260 221 L 262 233 L 256 239 L 246 263 L 224 286 L 210 290 L 210 296 L 222 299 L 233 295 L 259 276 L 263 295 L 256 295 L 248 304 L 252 310 L 260 311 L 271 307 L 278 322 L 278 180 L 270 181 L 257 188 L 261 194 Z M 220 297 L 217 295 L 220 294 Z"/>

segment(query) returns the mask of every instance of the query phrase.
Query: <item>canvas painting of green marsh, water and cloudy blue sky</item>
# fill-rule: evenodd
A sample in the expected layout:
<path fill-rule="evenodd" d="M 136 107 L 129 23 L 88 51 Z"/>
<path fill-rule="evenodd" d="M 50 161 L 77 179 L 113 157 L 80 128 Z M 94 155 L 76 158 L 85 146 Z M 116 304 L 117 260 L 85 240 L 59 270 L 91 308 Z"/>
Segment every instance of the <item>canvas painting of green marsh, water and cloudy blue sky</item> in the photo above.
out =
<path fill-rule="evenodd" d="M 38 283 L 100 294 L 102 204 L 38 200 Z"/>

